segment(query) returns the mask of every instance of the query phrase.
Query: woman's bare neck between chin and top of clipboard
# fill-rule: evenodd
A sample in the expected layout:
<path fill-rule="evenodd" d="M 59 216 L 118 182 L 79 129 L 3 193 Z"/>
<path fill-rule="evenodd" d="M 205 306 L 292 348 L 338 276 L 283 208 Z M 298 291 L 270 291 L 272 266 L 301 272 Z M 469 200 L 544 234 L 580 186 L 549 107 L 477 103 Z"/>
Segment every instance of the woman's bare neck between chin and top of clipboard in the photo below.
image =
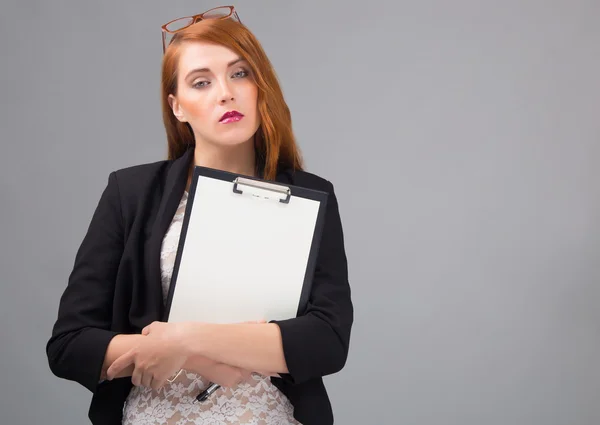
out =
<path fill-rule="evenodd" d="M 254 139 L 231 147 L 196 143 L 194 165 L 246 176 L 256 175 Z"/>

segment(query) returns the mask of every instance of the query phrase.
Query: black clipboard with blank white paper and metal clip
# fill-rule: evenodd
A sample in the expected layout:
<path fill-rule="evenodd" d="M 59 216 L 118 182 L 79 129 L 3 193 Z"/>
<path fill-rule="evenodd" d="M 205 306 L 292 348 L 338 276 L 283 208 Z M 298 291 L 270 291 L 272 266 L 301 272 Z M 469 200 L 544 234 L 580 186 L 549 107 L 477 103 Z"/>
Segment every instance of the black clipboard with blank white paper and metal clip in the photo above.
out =
<path fill-rule="evenodd" d="M 195 166 L 165 321 L 297 317 L 308 304 L 328 194 Z"/>

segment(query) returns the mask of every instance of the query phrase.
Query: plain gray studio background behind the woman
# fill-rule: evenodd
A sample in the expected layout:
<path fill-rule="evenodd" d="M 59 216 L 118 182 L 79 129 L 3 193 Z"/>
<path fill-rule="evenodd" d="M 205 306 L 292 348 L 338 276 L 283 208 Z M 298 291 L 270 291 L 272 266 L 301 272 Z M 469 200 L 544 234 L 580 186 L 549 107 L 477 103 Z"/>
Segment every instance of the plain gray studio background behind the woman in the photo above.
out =
<path fill-rule="evenodd" d="M 245 1 L 356 306 L 339 424 L 600 423 L 600 2 Z M 81 424 L 45 343 L 108 173 L 160 160 L 160 24 L 3 0 L 0 423 Z"/>

